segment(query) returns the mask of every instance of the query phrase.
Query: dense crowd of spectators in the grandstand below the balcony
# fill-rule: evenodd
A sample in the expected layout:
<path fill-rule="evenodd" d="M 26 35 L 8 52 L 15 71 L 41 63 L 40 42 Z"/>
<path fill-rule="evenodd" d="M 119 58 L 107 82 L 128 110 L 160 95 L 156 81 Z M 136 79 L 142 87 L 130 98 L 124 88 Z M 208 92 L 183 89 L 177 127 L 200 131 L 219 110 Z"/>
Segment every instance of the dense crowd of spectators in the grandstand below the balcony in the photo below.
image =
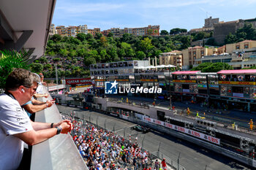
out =
<path fill-rule="evenodd" d="M 67 115 L 62 117 L 72 120 Z M 159 166 L 155 166 L 156 161 L 153 163 L 152 155 L 138 144 L 91 123 L 76 120 L 72 120 L 72 123 L 73 140 L 89 169 L 159 169 Z"/>

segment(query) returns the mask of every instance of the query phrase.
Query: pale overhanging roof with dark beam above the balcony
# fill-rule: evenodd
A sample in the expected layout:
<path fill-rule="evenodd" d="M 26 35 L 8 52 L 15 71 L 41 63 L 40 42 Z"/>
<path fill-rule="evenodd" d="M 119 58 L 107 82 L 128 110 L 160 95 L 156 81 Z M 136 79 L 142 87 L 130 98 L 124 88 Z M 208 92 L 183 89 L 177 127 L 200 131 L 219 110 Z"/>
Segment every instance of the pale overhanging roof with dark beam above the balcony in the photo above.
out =
<path fill-rule="evenodd" d="M 56 0 L 1 1 L 0 49 L 29 50 L 31 61 L 45 53 Z"/>

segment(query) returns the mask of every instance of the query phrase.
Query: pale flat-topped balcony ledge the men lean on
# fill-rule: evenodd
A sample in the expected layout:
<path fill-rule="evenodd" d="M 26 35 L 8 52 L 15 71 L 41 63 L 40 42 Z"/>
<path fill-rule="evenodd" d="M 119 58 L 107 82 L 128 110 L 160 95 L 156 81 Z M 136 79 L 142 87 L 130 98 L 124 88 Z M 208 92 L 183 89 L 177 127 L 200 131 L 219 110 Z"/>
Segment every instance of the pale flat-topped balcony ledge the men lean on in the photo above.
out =
<path fill-rule="evenodd" d="M 48 93 L 46 88 L 44 93 Z M 52 99 L 40 98 L 41 101 Z M 48 109 L 37 112 L 35 121 L 42 123 L 58 123 L 61 121 L 61 115 L 53 104 Z M 59 134 L 32 148 L 31 169 L 88 169 L 83 158 L 80 156 L 72 136 L 69 134 Z"/>

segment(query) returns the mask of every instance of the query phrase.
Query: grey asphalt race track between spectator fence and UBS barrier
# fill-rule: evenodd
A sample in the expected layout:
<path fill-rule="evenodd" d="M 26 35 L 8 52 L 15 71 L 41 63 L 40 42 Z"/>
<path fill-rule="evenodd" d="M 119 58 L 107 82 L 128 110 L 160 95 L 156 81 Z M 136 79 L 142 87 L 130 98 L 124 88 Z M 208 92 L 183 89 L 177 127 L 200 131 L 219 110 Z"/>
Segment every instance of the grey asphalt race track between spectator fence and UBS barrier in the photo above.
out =
<path fill-rule="evenodd" d="M 177 162 L 178 155 L 180 154 L 179 162 L 187 170 L 229 170 L 229 169 L 251 169 L 250 167 L 239 163 L 231 158 L 227 158 L 223 155 L 201 148 L 190 142 L 186 142 L 177 139 L 173 136 L 167 136 L 157 131 L 151 131 L 147 134 L 142 134 L 138 131 L 132 131 L 130 127 L 135 125 L 117 117 L 111 117 L 108 115 L 102 115 L 98 112 L 83 111 L 82 109 L 75 107 L 66 107 L 57 105 L 59 112 L 70 113 L 76 112 L 83 114 L 83 117 L 101 127 L 106 127 L 108 130 L 115 130 L 117 134 L 129 139 L 129 134 L 134 141 L 135 137 L 138 136 L 138 144 L 143 146 L 150 152 L 156 152 L 160 144 L 160 152 L 167 155 L 173 161 Z M 125 128 L 125 132 L 124 132 Z"/>

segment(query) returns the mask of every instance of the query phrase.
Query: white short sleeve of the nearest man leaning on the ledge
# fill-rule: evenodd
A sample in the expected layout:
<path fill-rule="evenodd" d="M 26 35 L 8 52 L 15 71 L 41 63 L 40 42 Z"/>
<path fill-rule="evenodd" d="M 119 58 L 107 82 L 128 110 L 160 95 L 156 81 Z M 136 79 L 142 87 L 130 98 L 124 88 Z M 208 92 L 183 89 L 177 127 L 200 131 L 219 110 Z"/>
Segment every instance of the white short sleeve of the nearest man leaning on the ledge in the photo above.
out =
<path fill-rule="evenodd" d="M 29 116 L 20 107 L 18 101 L 1 105 L 0 112 L 0 126 L 5 134 L 20 134 L 33 129 Z"/>

